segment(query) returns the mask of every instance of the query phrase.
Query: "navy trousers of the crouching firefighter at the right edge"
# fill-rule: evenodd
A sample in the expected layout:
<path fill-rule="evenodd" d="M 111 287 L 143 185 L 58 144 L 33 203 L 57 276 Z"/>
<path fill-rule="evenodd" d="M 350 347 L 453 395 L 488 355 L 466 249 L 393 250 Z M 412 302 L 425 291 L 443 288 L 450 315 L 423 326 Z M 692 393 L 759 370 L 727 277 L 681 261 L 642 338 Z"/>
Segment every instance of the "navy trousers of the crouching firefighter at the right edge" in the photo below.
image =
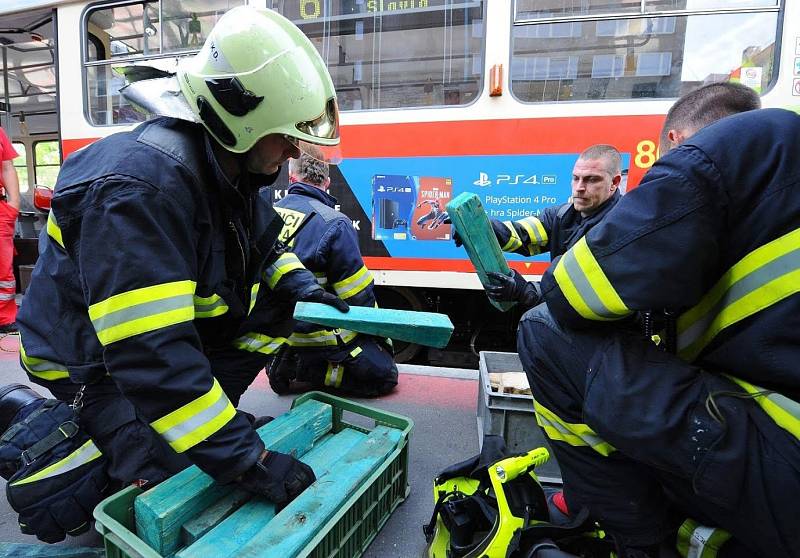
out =
<path fill-rule="evenodd" d="M 732 381 L 614 325 L 562 329 L 544 304 L 517 349 L 570 509 L 632 546 L 691 517 L 730 532 L 731 550 L 800 556 L 800 441 Z"/>

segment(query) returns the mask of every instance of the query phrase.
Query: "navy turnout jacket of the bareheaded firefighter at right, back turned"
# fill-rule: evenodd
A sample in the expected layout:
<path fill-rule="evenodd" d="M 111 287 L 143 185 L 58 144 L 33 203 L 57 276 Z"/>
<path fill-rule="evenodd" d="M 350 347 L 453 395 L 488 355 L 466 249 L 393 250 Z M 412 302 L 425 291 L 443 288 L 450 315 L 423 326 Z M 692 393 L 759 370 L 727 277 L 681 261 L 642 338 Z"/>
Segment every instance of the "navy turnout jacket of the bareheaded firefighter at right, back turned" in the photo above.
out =
<path fill-rule="evenodd" d="M 542 279 L 572 327 L 679 315 L 678 355 L 800 438 L 800 116 L 746 112 L 660 158 Z M 767 391 L 764 391 L 767 390 Z"/>

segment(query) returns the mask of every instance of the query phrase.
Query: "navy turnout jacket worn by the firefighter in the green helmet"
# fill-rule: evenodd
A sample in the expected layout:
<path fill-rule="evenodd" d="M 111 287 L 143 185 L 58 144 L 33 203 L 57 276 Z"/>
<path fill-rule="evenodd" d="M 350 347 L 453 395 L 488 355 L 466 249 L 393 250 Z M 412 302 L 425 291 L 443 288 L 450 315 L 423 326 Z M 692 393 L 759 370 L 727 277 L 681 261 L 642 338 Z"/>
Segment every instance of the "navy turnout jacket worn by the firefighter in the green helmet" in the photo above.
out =
<path fill-rule="evenodd" d="M 200 125 L 159 118 L 66 160 L 19 315 L 20 357 L 45 387 L 115 385 L 173 450 L 228 482 L 263 443 L 215 363 L 266 359 L 291 332 L 285 301 L 319 286 L 281 251 L 283 223 L 248 184 L 258 177 L 232 184 L 210 141 Z"/>

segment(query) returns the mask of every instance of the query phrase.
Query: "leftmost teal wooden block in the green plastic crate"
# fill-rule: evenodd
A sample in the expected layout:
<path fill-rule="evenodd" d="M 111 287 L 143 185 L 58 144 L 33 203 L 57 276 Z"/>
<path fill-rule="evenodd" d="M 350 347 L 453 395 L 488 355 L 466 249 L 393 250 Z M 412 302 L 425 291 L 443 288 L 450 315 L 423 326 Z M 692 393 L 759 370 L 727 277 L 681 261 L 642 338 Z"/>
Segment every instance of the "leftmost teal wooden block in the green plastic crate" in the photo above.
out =
<path fill-rule="evenodd" d="M 258 433 L 267 448 L 299 456 L 331 430 L 332 415 L 330 405 L 307 401 Z M 184 469 L 136 498 L 136 532 L 159 554 L 171 554 L 180 546 L 181 527 L 230 491 L 196 466 Z"/>

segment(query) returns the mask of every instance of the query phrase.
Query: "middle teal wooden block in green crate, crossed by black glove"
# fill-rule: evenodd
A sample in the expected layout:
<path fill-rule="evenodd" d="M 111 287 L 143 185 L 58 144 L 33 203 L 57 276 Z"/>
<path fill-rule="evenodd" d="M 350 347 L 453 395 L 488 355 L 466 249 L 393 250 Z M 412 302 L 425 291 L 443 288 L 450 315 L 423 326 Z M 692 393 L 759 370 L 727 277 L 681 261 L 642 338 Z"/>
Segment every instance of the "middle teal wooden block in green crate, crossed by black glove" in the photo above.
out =
<path fill-rule="evenodd" d="M 322 478 L 336 467 L 342 455 L 356 444 L 366 440 L 367 435 L 352 428 L 338 434 L 326 436 L 306 453 L 301 460 L 314 469 L 317 478 Z M 239 549 L 247 544 L 275 515 L 275 506 L 263 498 L 253 498 L 239 510 L 211 529 L 192 546 L 178 552 L 175 558 L 228 558 L 239 555 Z"/>

